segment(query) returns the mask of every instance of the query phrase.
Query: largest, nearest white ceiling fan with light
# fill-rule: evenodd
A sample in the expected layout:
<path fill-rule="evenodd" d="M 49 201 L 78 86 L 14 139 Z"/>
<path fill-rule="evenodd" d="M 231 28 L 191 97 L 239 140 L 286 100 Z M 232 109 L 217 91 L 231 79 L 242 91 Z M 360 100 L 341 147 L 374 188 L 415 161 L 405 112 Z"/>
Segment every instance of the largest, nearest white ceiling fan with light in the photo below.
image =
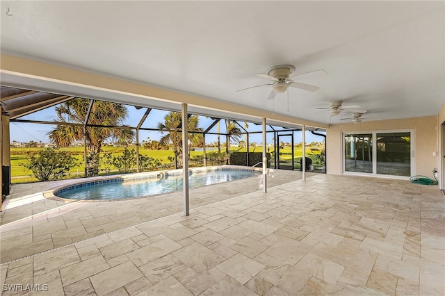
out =
<path fill-rule="evenodd" d="M 271 81 L 273 81 L 273 83 L 255 85 L 251 86 L 250 88 L 272 85 L 272 92 L 268 99 L 273 99 L 276 93 L 285 92 L 286 90 L 288 90 L 289 86 L 293 88 L 300 88 L 301 90 L 308 90 L 309 92 L 316 92 L 319 89 L 318 86 L 293 81 L 291 78 L 294 79 L 298 77 L 298 79 L 309 79 L 327 74 L 325 70 L 317 70 L 313 72 L 289 76 L 293 71 L 295 71 L 295 67 L 293 67 L 292 65 L 278 65 L 272 67 L 268 70 L 267 74 L 257 74 L 257 76 L 270 79 Z M 243 88 L 242 90 L 248 90 L 250 88 Z M 237 90 L 237 92 L 241 92 L 242 90 Z"/>

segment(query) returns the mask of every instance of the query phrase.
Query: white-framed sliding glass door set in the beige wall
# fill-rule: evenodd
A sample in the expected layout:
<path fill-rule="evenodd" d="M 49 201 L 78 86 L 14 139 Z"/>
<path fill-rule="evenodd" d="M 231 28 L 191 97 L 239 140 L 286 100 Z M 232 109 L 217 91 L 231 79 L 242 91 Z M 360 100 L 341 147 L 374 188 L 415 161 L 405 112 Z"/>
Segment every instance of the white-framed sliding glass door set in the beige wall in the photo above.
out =
<path fill-rule="evenodd" d="M 413 135 L 411 130 L 343 133 L 343 172 L 412 176 Z"/>

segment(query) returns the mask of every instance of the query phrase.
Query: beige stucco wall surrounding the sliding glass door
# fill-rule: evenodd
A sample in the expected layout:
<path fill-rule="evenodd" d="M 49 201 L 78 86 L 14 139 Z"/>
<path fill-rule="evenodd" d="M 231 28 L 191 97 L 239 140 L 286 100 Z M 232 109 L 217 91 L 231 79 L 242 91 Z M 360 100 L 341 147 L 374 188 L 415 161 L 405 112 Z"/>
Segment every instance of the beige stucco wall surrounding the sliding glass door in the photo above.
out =
<path fill-rule="evenodd" d="M 358 124 L 332 124 L 326 133 L 327 174 L 341 174 L 341 133 L 351 131 L 389 131 L 395 129 L 414 129 L 415 174 L 422 174 L 432 178 L 432 169 L 439 167 L 439 155 L 432 155 L 433 152 L 439 151 L 437 116 L 359 122 Z"/>

